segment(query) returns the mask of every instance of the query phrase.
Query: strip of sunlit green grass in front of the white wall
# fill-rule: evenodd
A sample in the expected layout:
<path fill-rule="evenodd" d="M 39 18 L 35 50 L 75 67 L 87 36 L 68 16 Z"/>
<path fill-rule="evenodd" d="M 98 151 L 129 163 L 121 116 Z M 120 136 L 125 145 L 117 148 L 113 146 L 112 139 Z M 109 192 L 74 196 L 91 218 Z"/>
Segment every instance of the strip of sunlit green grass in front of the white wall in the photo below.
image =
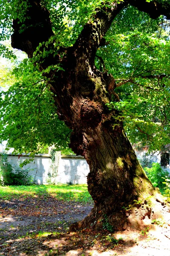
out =
<path fill-rule="evenodd" d="M 31 185 L 31 186 L 0 186 L 0 199 L 11 200 L 22 198 L 55 197 L 63 201 L 92 202 L 87 185 Z"/>

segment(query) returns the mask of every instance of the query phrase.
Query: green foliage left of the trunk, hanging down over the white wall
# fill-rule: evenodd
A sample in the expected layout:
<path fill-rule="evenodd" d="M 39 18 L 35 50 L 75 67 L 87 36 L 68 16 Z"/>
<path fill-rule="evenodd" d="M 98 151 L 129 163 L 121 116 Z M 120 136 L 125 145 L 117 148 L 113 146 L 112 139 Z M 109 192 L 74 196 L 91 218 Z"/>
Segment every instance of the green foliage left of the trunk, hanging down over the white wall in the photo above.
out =
<path fill-rule="evenodd" d="M 34 74 L 26 67 L 27 59 L 14 70 L 17 82 L 0 93 L 0 140 L 8 140 L 6 149 L 16 153 L 38 153 L 51 144 L 67 148 L 71 131 L 58 119 L 53 94 L 34 67 Z"/>

